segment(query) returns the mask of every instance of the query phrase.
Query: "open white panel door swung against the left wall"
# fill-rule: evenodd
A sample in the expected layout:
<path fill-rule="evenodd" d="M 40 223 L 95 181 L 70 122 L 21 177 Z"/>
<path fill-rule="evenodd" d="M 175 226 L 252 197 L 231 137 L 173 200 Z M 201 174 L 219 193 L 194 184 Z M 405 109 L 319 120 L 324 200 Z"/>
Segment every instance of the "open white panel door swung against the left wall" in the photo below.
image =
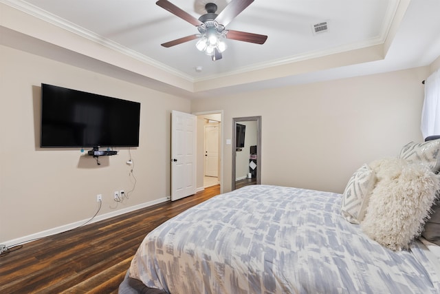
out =
<path fill-rule="evenodd" d="M 171 200 L 196 191 L 197 116 L 171 114 Z"/>

